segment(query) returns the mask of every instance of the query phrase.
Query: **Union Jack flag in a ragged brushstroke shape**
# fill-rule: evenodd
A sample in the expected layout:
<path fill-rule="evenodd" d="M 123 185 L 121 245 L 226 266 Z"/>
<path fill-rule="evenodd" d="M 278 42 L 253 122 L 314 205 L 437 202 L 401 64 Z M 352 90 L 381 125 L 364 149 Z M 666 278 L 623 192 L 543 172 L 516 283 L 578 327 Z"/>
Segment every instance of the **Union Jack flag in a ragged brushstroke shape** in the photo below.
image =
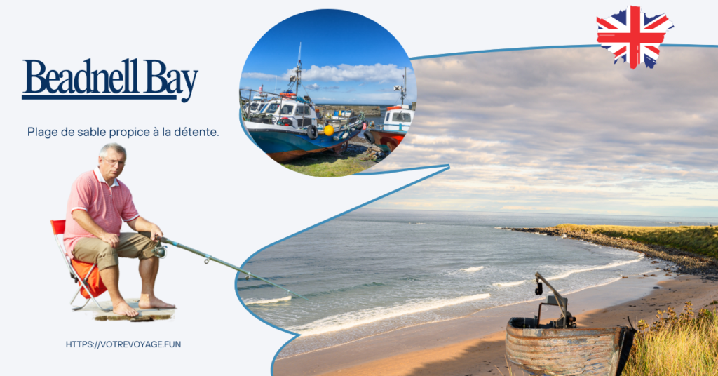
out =
<path fill-rule="evenodd" d="M 640 6 L 629 6 L 605 19 L 596 17 L 596 22 L 601 47 L 612 52 L 614 64 L 623 58 L 624 62 L 628 60 L 631 69 L 640 63 L 653 68 L 663 37 L 673 28 L 666 14 L 647 17 L 640 12 Z"/>

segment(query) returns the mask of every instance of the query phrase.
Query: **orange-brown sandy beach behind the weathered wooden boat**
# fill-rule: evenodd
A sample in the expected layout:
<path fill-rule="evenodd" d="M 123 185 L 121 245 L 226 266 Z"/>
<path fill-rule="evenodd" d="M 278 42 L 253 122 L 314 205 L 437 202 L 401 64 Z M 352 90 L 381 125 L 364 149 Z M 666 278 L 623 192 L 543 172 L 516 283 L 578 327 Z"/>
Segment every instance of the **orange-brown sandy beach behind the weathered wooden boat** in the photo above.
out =
<path fill-rule="evenodd" d="M 560 285 L 559 285 L 560 288 Z M 527 300 L 536 299 L 529 295 Z M 694 275 L 655 272 L 565 295 L 569 311 L 582 327 L 633 325 L 652 322 L 656 310 L 667 306 L 681 311 L 684 302 L 704 308 L 718 299 L 718 284 Z M 541 298 L 546 298 L 544 293 Z M 533 317 L 538 300 L 490 308 L 470 316 L 423 324 L 337 347 L 276 360 L 274 375 L 508 375 L 504 358 L 505 324 L 510 317 Z M 714 307 L 714 306 L 711 306 Z M 559 316 L 544 308 L 542 322 Z M 297 339 L 297 341 L 300 339 Z M 497 368 L 498 367 L 498 368 Z M 516 375 L 521 370 L 514 369 Z"/>

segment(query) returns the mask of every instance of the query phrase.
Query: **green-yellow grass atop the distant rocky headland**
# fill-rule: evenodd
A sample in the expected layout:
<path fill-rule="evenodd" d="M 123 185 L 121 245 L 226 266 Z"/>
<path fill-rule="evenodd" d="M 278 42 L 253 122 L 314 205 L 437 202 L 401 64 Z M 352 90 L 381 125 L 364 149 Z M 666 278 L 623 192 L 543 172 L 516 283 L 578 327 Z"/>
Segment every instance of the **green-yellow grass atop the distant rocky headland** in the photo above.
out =
<path fill-rule="evenodd" d="M 582 224 L 559 224 L 558 229 L 589 231 L 609 237 L 633 239 L 636 242 L 673 247 L 718 258 L 718 227 L 711 226 L 589 226 Z"/>

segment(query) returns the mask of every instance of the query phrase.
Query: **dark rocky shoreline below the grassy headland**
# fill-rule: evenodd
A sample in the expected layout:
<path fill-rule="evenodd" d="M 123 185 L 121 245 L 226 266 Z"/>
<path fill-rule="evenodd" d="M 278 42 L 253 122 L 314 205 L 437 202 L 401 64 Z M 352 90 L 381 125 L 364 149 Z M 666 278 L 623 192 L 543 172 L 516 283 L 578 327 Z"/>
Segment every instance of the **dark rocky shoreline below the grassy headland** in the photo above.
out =
<path fill-rule="evenodd" d="M 675 270 L 663 270 L 664 272 L 675 272 L 679 274 L 700 275 L 701 278 L 718 281 L 718 260 L 712 257 L 695 255 L 672 247 L 664 247 L 657 244 L 645 244 L 632 239 L 620 237 L 609 237 L 603 234 L 595 234 L 591 231 L 574 231 L 556 227 L 528 227 L 503 229 L 531 234 L 546 234 L 552 237 L 566 237 L 568 239 L 579 239 L 584 242 L 592 242 L 607 247 L 628 249 L 629 251 L 643 253 L 646 257 L 659 259 L 676 264 Z M 669 268 L 670 269 L 670 268 Z"/>

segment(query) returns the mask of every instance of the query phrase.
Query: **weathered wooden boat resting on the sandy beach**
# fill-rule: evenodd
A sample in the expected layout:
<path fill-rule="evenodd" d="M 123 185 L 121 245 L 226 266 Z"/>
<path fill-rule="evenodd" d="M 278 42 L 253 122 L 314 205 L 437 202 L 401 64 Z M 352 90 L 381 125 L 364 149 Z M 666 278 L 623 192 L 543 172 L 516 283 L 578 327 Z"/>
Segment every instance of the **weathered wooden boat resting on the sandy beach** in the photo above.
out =
<path fill-rule="evenodd" d="M 542 281 L 554 295 L 538 304 L 538 316 L 508 321 L 508 361 L 531 375 L 620 375 L 633 346 L 633 326 L 579 328 L 576 318 L 567 311 L 568 299 L 538 272 L 536 295 L 543 293 Z M 542 306 L 559 306 L 561 317 L 541 324 Z"/>

